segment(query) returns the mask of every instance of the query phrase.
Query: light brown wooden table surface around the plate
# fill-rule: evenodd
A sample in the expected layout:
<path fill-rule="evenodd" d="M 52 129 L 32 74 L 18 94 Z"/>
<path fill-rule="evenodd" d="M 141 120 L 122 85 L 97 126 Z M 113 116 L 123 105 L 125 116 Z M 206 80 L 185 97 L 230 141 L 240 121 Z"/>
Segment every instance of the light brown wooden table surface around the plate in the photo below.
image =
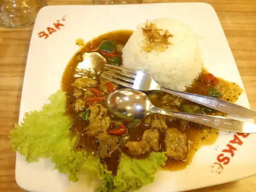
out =
<path fill-rule="evenodd" d="M 48 5 L 92 4 L 91 0 L 46 0 Z M 143 3 L 160 2 L 143 0 Z M 161 2 L 192 2 L 164 0 Z M 242 76 L 253 109 L 256 109 L 256 1 L 198 0 L 216 10 Z M 15 157 L 8 135 L 18 122 L 20 96 L 33 25 L 0 27 L 0 191 L 21 192 L 15 181 Z M 256 176 L 191 192 L 254 192 Z"/>

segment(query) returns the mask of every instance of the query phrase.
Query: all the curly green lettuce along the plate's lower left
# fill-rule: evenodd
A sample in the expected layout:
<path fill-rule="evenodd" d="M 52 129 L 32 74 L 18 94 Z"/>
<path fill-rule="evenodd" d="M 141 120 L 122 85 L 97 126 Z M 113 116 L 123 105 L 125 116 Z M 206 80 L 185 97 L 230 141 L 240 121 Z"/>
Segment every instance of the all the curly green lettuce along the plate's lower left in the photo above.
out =
<path fill-rule="evenodd" d="M 67 174 L 72 182 L 78 181 L 78 175 L 84 174 L 84 170 L 92 171 L 102 181 L 98 192 L 136 190 L 154 181 L 156 172 L 166 161 L 164 152 L 152 152 L 144 160 L 122 154 L 113 178 L 98 156 L 74 150 L 77 137 L 68 137 L 72 120 L 65 115 L 65 92 L 58 91 L 49 100 L 50 104 L 45 104 L 41 111 L 26 113 L 21 125 L 11 131 L 13 150 L 24 155 L 28 162 L 49 157 L 55 168 Z"/>

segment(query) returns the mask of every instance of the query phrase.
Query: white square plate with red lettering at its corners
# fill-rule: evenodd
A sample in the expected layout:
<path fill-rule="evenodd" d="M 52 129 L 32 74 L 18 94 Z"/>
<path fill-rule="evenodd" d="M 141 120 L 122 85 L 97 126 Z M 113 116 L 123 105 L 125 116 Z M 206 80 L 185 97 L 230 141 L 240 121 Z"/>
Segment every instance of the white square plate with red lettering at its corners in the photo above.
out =
<path fill-rule="evenodd" d="M 87 42 L 112 30 L 134 30 L 137 24 L 146 19 L 160 17 L 174 18 L 190 26 L 200 39 L 205 67 L 215 76 L 236 82 L 243 87 L 218 16 L 209 4 L 48 6 L 40 10 L 34 25 L 19 122 L 25 112 L 39 110 L 47 102 L 48 96 L 60 89 L 62 72 L 78 50 L 78 46 L 75 45 L 77 38 Z M 54 23 L 60 24 L 54 27 Z M 43 36 L 44 32 L 48 35 L 46 39 Z M 249 108 L 245 93 L 240 96 L 237 103 Z M 234 140 L 236 136 L 239 139 Z M 221 132 L 216 144 L 201 148 L 188 168 L 178 172 L 160 171 L 155 182 L 141 188 L 140 191 L 191 190 L 255 174 L 256 134 L 236 136 L 233 133 Z M 228 146 L 232 150 L 228 150 Z M 73 184 L 68 182 L 65 175 L 53 168 L 50 160 L 27 163 L 23 156 L 17 154 L 16 181 L 20 187 L 34 192 L 94 191 L 94 184 L 86 182 L 86 178 Z"/>

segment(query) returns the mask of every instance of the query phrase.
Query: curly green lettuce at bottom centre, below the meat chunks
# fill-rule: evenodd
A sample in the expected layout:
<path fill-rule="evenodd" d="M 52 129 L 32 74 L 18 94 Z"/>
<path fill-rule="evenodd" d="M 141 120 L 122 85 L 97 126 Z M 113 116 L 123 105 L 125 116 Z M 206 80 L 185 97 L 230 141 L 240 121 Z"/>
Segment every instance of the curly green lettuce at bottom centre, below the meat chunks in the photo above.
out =
<path fill-rule="evenodd" d="M 122 154 L 117 175 L 114 177 L 114 192 L 136 190 L 152 183 L 155 174 L 167 160 L 165 152 L 152 152 L 146 159 L 135 159 Z"/>

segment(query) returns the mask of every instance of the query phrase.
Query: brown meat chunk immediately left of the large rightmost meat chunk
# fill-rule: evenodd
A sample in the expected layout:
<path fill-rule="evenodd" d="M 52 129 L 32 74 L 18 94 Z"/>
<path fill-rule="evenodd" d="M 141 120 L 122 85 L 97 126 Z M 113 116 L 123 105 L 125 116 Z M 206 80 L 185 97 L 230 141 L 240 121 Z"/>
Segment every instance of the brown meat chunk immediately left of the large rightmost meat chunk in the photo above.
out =
<path fill-rule="evenodd" d="M 159 145 L 158 145 L 158 140 L 159 140 L 159 133 L 157 131 L 153 130 L 146 130 L 143 133 L 142 136 L 142 141 L 146 141 L 151 150 L 158 151 Z"/>

